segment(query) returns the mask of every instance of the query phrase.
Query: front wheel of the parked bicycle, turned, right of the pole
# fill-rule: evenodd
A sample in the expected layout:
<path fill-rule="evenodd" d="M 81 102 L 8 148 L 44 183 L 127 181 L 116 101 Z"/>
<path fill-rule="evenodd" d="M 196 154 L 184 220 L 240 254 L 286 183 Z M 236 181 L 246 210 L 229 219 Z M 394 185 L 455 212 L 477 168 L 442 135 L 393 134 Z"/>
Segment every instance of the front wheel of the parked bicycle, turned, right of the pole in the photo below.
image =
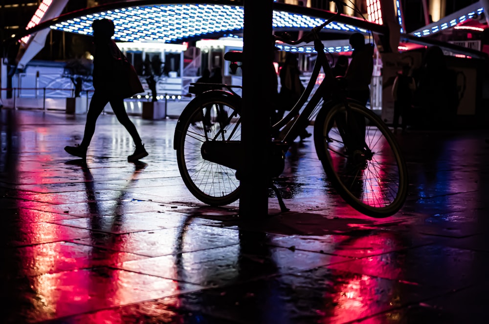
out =
<path fill-rule="evenodd" d="M 368 216 L 391 216 L 407 196 L 405 160 L 392 132 L 372 110 L 353 101 L 348 106 L 337 103 L 319 112 L 316 152 L 328 180 L 347 203 Z M 349 130 L 349 118 L 356 130 Z"/>

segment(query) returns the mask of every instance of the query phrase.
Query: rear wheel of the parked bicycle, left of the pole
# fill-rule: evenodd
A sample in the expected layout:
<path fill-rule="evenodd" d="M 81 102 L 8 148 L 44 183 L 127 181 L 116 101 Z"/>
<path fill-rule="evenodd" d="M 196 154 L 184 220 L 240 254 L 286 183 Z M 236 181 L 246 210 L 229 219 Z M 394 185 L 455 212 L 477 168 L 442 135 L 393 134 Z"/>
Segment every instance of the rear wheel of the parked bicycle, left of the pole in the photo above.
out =
<path fill-rule="evenodd" d="M 205 204 L 222 206 L 239 198 L 236 170 L 205 160 L 200 150 L 205 141 L 241 140 L 240 111 L 239 102 L 233 97 L 200 95 L 184 108 L 178 120 L 178 170 L 188 190 Z"/>

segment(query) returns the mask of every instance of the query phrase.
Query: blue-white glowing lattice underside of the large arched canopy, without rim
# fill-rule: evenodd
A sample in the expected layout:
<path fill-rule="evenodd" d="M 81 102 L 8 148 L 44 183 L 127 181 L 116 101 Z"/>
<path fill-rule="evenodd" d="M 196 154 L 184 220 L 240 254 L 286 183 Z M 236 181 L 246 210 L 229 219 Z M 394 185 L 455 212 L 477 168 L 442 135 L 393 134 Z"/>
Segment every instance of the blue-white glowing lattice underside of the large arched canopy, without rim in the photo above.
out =
<path fill-rule="evenodd" d="M 220 4 L 134 6 L 57 22 L 50 28 L 91 35 L 91 22 L 102 18 L 114 22 L 114 39 L 122 42 L 180 43 L 189 38 L 240 33 L 243 30 L 243 7 Z M 307 29 L 322 22 L 323 19 L 306 15 L 273 12 L 274 28 Z M 341 22 L 332 22 L 325 28 L 344 32 L 367 32 Z"/>

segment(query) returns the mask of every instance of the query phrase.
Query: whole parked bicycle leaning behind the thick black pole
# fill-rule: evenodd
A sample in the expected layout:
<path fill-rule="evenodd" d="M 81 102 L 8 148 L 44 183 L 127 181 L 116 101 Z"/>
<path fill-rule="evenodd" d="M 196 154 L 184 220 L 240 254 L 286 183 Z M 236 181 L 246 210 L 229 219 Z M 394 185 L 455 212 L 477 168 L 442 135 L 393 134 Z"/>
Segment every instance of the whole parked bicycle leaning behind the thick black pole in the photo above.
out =
<path fill-rule="evenodd" d="M 285 152 L 314 119 L 314 146 L 333 188 L 367 216 L 391 216 L 400 210 L 407 196 L 406 163 L 388 127 L 372 110 L 347 98 L 345 80 L 332 74 L 318 34 L 338 15 L 297 41 L 275 36 L 290 45 L 312 41 L 317 58 L 301 98 L 271 126 L 271 134 L 276 135 L 272 137 L 268 173 L 273 179 L 283 172 Z M 236 68 L 237 62 L 243 62 L 241 55 L 231 51 L 224 59 Z M 324 79 L 313 91 L 321 68 Z M 196 96 L 186 106 L 174 137 L 183 182 L 196 198 L 212 206 L 227 205 L 239 198 L 239 168 L 244 154 L 240 141 L 242 98 L 233 90 L 240 86 L 218 87 Z M 203 116 L 208 111 L 211 123 L 204 125 Z M 282 211 L 287 211 L 277 188 L 271 188 Z"/>

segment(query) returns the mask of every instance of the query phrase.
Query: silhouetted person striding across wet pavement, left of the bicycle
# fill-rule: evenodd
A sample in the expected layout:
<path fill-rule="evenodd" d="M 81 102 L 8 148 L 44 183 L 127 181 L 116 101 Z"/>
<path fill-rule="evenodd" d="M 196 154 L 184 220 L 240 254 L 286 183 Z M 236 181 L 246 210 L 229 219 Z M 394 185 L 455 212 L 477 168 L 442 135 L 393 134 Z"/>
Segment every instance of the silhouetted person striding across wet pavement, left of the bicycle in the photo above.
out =
<path fill-rule="evenodd" d="M 87 113 L 83 140 L 78 146 L 66 146 L 65 151 L 82 159 L 86 158 L 87 149 L 95 132 L 97 118 L 107 103 L 110 103 L 117 120 L 133 138 L 136 148 L 133 154 L 128 156 L 128 161 L 134 162 L 147 156 L 148 152 L 144 148 L 136 127 L 127 115 L 124 98 L 143 92 L 143 87 L 134 68 L 111 39 L 114 34 L 114 23 L 109 19 L 95 20 L 92 22 L 92 29 L 95 44 L 93 60 L 93 87 L 95 91 Z M 126 74 L 123 71 L 130 72 Z"/>

